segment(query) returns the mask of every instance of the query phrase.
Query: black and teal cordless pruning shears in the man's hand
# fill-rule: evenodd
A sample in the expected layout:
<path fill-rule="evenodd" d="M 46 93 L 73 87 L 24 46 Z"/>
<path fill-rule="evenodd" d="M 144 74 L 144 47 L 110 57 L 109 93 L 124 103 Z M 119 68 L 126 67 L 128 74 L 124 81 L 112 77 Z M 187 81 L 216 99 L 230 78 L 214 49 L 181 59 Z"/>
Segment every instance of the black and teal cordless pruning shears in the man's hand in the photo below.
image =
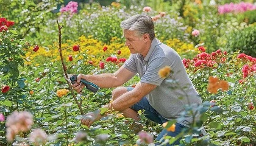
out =
<path fill-rule="evenodd" d="M 70 75 L 68 74 L 68 78 L 66 78 L 65 74 L 64 75 L 64 78 L 69 82 L 69 83 L 76 83 L 76 78 L 77 78 L 77 75 Z M 95 85 L 94 83 L 91 83 L 85 79 L 81 79 L 80 81 L 81 83 L 83 83 L 85 85 L 85 87 L 90 90 L 91 92 L 97 92 L 99 90 L 99 87 L 97 85 Z"/>

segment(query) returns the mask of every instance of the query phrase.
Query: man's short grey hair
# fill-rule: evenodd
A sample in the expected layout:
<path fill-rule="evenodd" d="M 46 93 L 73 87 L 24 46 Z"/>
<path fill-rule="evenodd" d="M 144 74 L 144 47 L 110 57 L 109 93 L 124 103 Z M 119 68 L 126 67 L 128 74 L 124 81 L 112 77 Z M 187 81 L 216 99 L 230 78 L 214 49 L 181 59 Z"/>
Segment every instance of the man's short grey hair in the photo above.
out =
<path fill-rule="evenodd" d="M 150 40 L 155 38 L 154 22 L 147 15 L 133 15 L 120 24 L 122 29 L 135 30 L 138 36 L 149 34 Z"/>

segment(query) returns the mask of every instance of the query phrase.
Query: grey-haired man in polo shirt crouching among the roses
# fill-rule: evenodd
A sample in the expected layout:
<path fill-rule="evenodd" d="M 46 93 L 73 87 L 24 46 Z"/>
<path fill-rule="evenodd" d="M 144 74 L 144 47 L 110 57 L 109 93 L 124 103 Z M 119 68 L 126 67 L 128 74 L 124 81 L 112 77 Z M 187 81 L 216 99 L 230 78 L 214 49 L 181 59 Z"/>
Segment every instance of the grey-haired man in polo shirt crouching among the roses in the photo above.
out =
<path fill-rule="evenodd" d="M 104 105 L 103 108 L 120 111 L 125 117 L 135 121 L 139 120 L 139 110 L 144 111 L 148 119 L 162 124 L 180 117 L 185 111 L 185 105 L 202 105 L 180 56 L 171 47 L 155 38 L 154 22 L 151 17 L 134 15 L 122 21 L 121 28 L 126 38 L 126 46 L 131 53 L 129 59 L 113 74 L 79 74 L 73 89 L 81 92 L 85 87 L 80 84 L 80 78 L 93 82 L 100 88 L 118 87 L 112 92 L 113 102 Z M 172 74 L 162 78 L 158 71 L 166 66 L 171 68 Z M 140 75 L 140 82 L 135 88 L 121 86 L 137 73 Z M 173 82 L 170 83 L 170 80 Z M 85 116 L 81 122 L 90 127 L 101 118 L 102 115 L 99 113 L 94 119 Z M 191 116 L 187 116 L 176 122 L 174 132 L 163 129 L 156 140 L 160 141 L 165 134 L 176 136 L 182 128 L 189 127 L 192 120 Z M 179 141 L 176 144 L 179 144 Z"/>

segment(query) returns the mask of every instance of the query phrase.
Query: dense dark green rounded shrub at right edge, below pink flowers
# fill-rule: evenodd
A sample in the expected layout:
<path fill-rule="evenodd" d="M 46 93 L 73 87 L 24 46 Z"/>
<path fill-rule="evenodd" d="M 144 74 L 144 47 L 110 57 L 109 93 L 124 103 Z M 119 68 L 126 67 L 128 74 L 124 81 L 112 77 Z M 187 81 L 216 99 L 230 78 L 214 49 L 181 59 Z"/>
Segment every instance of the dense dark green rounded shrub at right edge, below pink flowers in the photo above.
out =
<path fill-rule="evenodd" d="M 241 50 L 244 54 L 256 56 L 256 25 L 252 24 L 241 30 L 230 33 L 227 38 L 226 48 L 230 52 Z"/>

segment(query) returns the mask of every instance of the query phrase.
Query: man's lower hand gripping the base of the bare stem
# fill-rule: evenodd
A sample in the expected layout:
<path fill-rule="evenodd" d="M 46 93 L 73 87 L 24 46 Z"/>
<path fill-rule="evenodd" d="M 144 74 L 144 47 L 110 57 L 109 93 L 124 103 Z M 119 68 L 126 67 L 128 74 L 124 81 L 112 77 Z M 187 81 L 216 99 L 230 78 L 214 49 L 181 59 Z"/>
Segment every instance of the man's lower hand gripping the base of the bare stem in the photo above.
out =
<path fill-rule="evenodd" d="M 81 119 L 82 125 L 87 126 L 88 128 L 93 124 L 93 122 L 100 120 L 103 116 L 101 116 L 101 110 L 97 109 L 96 111 L 85 114 Z"/>

